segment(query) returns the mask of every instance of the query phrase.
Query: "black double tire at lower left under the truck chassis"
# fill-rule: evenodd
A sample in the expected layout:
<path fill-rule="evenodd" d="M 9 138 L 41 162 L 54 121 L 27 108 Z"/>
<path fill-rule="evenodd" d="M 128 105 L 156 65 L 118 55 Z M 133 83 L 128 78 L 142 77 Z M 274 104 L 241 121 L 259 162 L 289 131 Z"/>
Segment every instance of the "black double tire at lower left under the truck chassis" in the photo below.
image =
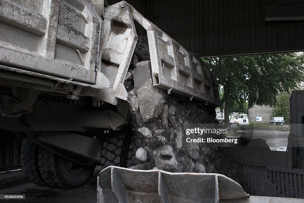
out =
<path fill-rule="evenodd" d="M 37 184 L 73 189 L 86 184 L 95 170 L 95 166 L 74 163 L 29 140 L 23 142 L 23 145 L 22 149 L 35 149 L 31 150 L 32 153 L 23 154 L 22 163 L 29 180 Z M 27 167 L 29 164 L 31 167 Z"/>

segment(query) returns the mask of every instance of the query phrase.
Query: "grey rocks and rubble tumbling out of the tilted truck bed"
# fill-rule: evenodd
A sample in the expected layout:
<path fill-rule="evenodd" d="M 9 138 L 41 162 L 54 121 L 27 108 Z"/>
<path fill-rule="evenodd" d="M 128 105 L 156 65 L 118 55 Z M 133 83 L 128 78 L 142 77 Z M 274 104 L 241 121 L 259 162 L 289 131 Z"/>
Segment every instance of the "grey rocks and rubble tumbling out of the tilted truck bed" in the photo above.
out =
<path fill-rule="evenodd" d="M 149 60 L 147 36 L 138 36 L 136 48 Z M 182 147 L 182 124 L 217 123 L 215 107 L 154 87 L 150 72 L 147 73 L 145 68 L 146 62 L 139 62 L 138 58 L 134 54 L 129 70 L 132 76 L 125 81 L 133 118 L 133 140 L 130 145 L 133 151 L 130 151 L 132 160 L 127 162 L 128 167 L 153 161 L 154 169 L 230 176 L 233 166 L 226 159 L 228 149 Z M 136 81 L 140 74 L 148 77 L 140 77 L 140 81 Z M 131 156 L 132 153 L 136 156 Z"/>

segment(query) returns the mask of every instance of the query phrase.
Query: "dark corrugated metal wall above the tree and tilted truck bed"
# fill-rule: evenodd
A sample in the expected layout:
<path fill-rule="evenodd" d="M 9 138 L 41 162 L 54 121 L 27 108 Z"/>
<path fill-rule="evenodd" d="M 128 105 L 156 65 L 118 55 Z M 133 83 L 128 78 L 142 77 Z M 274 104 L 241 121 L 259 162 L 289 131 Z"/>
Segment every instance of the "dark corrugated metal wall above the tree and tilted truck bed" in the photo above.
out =
<path fill-rule="evenodd" d="M 188 51 L 200 56 L 304 50 L 304 20 L 299 20 L 301 18 L 269 20 L 271 18 L 268 18 L 266 21 L 265 19 L 265 8 L 267 11 L 277 11 L 277 7 L 280 7 L 282 16 L 286 16 L 288 10 L 302 5 L 299 1 L 286 3 L 283 0 L 128 0 L 127 2 Z M 278 11 L 275 13 L 276 19 L 278 19 L 277 13 Z M 269 12 L 266 14 L 268 17 L 274 15 Z M 304 16 L 301 12 L 297 15 Z"/>

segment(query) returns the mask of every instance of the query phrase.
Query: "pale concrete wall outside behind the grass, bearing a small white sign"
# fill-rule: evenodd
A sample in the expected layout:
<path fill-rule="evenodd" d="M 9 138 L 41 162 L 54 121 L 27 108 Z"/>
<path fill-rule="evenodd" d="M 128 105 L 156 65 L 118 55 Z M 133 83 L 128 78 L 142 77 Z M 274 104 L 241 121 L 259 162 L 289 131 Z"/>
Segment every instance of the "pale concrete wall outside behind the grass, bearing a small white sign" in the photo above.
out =
<path fill-rule="evenodd" d="M 272 107 L 257 106 L 248 109 L 249 122 L 251 123 L 269 123 Z M 256 121 L 256 117 L 262 117 L 262 121 Z"/>

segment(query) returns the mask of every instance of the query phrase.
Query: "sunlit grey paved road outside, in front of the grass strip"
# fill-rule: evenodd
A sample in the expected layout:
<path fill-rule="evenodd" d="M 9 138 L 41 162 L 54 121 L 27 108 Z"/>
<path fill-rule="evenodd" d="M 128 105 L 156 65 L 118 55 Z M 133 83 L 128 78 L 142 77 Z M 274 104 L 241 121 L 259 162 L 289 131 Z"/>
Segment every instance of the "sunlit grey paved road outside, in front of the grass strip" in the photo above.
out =
<path fill-rule="evenodd" d="M 289 131 L 270 131 L 270 130 L 239 130 L 242 135 L 229 136 L 231 138 L 262 138 L 266 140 L 269 148 L 273 151 L 286 151 Z"/>

